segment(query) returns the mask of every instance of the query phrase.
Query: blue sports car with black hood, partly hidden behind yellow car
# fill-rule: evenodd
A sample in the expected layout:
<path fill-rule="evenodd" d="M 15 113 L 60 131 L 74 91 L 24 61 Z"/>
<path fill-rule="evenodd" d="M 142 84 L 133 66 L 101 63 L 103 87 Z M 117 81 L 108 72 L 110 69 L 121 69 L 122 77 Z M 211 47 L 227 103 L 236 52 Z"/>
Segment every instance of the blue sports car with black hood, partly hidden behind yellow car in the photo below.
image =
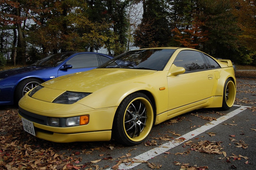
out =
<path fill-rule="evenodd" d="M 64 52 L 31 66 L 0 71 L 0 105 L 17 104 L 30 89 L 62 75 L 88 71 L 112 59 L 96 52 Z"/>

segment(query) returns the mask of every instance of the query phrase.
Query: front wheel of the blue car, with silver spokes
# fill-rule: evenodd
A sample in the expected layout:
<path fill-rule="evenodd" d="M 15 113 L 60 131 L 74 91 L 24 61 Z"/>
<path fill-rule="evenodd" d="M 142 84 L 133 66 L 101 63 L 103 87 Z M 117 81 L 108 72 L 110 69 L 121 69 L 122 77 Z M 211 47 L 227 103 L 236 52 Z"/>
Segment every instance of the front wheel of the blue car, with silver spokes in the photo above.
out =
<path fill-rule="evenodd" d="M 43 81 L 36 78 L 29 78 L 21 81 L 14 93 L 14 103 L 18 104 L 22 96 L 24 96 L 29 90 L 41 84 Z"/>

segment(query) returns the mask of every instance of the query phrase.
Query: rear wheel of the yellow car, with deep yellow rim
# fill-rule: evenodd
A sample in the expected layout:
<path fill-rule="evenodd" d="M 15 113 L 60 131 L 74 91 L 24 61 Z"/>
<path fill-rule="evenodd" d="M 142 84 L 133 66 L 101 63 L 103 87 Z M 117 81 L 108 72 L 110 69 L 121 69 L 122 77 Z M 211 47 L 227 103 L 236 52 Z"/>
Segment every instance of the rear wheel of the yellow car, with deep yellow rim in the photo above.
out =
<path fill-rule="evenodd" d="M 224 84 L 222 109 L 223 110 L 230 109 L 235 102 L 235 98 L 236 98 L 236 86 L 234 82 L 230 78 L 228 78 Z"/>

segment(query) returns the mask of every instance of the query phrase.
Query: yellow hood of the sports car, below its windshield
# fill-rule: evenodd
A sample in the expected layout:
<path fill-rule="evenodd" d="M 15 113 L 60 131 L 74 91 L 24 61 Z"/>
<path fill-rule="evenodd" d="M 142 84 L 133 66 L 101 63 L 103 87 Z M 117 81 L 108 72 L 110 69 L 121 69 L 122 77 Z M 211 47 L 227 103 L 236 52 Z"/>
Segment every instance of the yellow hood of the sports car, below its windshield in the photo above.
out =
<path fill-rule="evenodd" d="M 50 81 L 46 81 L 42 85 L 50 89 L 93 93 L 104 87 L 117 84 L 119 82 L 131 81 L 134 78 L 139 78 L 154 72 L 156 71 L 97 68 L 87 72 L 61 76 Z"/>

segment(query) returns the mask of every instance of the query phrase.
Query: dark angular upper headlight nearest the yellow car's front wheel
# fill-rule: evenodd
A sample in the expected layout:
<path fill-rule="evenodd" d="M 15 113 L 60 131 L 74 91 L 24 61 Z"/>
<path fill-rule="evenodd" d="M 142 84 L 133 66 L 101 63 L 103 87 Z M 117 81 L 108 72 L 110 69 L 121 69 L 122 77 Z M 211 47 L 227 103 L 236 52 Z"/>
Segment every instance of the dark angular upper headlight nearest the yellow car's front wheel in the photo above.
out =
<path fill-rule="evenodd" d="M 53 103 L 60 103 L 60 104 L 73 104 L 76 103 L 78 100 L 88 96 L 91 93 L 81 93 L 81 92 L 72 92 L 66 91 L 59 97 L 57 97 Z"/>

